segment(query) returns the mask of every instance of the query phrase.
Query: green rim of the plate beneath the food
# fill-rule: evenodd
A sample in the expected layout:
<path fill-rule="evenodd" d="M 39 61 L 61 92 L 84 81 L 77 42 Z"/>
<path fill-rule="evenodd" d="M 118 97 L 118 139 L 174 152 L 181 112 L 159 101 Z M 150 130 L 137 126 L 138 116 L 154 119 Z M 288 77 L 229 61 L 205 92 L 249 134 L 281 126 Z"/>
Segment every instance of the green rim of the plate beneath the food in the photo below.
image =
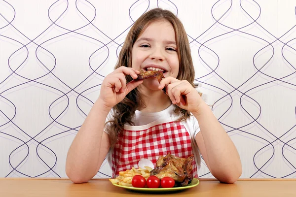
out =
<path fill-rule="evenodd" d="M 188 188 L 195 187 L 199 184 L 199 180 L 197 178 L 193 178 L 190 184 L 184 187 L 177 187 L 177 188 L 134 188 L 134 187 L 128 187 L 123 185 L 118 185 L 112 183 L 116 187 L 125 188 L 129 190 L 137 190 L 137 191 L 145 191 L 145 192 L 163 192 L 163 191 L 177 191 L 177 190 L 185 190 Z"/>

